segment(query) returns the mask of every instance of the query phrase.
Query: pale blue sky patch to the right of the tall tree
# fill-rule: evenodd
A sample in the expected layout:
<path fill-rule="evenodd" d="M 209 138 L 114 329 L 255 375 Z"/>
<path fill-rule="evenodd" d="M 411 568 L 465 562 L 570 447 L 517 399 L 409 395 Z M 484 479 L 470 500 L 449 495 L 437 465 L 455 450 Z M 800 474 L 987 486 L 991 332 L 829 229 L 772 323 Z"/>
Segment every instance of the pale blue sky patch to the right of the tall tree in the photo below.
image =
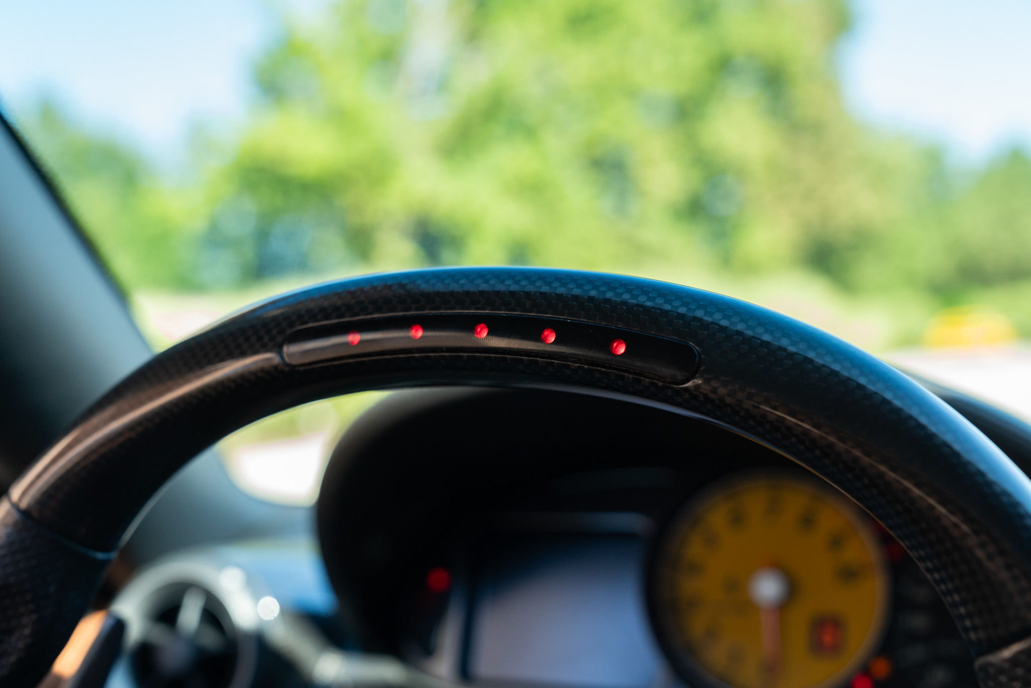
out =
<path fill-rule="evenodd" d="M 853 111 L 983 159 L 1031 149 L 1031 0 L 858 0 L 842 46 Z"/>

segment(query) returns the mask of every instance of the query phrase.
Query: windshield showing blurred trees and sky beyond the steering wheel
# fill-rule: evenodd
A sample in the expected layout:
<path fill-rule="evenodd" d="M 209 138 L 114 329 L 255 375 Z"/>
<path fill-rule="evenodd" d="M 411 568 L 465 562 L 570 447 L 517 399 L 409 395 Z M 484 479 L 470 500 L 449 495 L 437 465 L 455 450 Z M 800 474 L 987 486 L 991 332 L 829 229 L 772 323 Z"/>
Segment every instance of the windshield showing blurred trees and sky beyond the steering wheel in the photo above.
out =
<path fill-rule="evenodd" d="M 5 3 L 0 99 L 158 349 L 315 281 L 584 268 L 1031 417 L 1028 30 L 1018 0 Z M 324 452 L 363 398 L 230 449 Z"/>

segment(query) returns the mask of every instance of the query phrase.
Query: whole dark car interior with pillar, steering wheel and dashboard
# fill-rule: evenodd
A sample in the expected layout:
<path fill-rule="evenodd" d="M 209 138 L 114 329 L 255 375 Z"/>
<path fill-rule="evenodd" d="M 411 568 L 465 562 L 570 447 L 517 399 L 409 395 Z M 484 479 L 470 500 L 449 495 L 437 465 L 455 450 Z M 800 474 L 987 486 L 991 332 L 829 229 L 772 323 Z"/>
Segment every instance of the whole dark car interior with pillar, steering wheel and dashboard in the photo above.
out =
<path fill-rule="evenodd" d="M 0 304 L 4 686 L 1031 676 L 1031 427 L 759 306 L 426 269 L 155 355 L 6 123 Z M 211 449 L 369 389 L 313 506 Z"/>

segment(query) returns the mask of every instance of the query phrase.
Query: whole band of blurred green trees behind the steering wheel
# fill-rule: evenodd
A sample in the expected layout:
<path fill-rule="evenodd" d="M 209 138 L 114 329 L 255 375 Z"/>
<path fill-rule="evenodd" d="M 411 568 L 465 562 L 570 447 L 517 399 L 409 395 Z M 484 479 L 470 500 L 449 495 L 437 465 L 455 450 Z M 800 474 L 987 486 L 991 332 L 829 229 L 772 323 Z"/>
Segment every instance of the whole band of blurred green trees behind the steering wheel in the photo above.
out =
<path fill-rule="evenodd" d="M 284 19 L 228 155 L 172 185 L 26 119 L 131 289 L 539 264 L 800 269 L 943 302 L 1031 280 L 1031 160 L 845 111 L 843 0 L 347 0 Z"/>

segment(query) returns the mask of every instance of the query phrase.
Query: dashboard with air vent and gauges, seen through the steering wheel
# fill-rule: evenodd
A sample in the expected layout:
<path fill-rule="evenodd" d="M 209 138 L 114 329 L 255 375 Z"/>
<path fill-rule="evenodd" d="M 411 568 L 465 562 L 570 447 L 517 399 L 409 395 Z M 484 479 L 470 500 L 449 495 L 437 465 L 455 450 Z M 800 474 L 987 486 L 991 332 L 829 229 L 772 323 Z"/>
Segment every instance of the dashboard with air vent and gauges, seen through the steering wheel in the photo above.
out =
<path fill-rule="evenodd" d="M 842 493 L 618 398 L 395 394 L 337 446 L 318 536 L 138 575 L 114 601 L 129 631 L 109 688 L 335 685 L 320 663 L 356 650 L 439 685 L 976 685 L 926 576 Z M 205 624 L 192 659 L 169 649 Z"/>

